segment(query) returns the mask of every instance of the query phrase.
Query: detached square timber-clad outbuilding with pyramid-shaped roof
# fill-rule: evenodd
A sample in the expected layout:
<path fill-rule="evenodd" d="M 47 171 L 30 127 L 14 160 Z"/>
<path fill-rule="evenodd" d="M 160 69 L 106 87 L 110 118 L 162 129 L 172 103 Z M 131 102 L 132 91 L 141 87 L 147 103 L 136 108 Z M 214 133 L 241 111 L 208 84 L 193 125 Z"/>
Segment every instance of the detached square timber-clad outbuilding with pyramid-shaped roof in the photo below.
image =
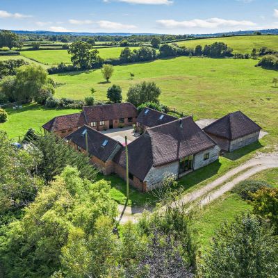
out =
<path fill-rule="evenodd" d="M 204 128 L 204 132 L 227 152 L 258 141 L 260 131 L 261 127 L 240 111 L 229 113 Z"/>

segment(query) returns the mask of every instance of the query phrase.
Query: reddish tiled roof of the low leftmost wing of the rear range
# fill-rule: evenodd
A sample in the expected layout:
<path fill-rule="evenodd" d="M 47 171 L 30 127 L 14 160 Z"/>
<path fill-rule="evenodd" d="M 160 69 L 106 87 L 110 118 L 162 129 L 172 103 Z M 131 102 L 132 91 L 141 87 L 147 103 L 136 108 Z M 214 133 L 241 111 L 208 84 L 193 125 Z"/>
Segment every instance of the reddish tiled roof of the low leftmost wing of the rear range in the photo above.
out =
<path fill-rule="evenodd" d="M 62 131 L 65 129 L 74 129 L 85 124 L 83 113 L 75 113 L 54 117 L 42 127 L 47 131 Z"/>

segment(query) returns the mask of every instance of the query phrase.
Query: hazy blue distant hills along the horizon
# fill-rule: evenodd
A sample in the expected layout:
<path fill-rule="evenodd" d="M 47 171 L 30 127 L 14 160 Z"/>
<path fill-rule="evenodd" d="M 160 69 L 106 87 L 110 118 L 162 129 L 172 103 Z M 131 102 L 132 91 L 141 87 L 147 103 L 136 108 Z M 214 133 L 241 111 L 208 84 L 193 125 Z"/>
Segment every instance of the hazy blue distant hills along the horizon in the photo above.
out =
<path fill-rule="evenodd" d="M 156 33 L 79 33 L 79 32 L 52 32 L 52 31 L 19 31 L 12 30 L 14 33 L 18 34 L 37 34 L 37 35 L 112 35 L 112 36 L 126 36 L 129 37 L 131 35 L 162 35 Z M 263 35 L 272 34 L 278 35 L 278 29 L 265 29 L 265 30 L 249 30 L 249 31 L 236 31 L 236 32 L 223 32 L 223 33 L 211 33 L 211 34 L 188 34 L 193 35 L 198 38 L 202 37 L 220 37 L 223 35 L 252 35 L 254 32 L 261 32 Z"/>

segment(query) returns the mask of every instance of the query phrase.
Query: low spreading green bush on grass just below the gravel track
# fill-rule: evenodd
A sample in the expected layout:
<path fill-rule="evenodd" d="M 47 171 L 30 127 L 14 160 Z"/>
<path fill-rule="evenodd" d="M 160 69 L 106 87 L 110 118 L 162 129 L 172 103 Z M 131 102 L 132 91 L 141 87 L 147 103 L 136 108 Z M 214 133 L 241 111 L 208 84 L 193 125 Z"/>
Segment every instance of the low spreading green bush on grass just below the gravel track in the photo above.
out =
<path fill-rule="evenodd" d="M 245 200 L 252 200 L 252 194 L 264 187 L 269 187 L 268 183 L 263 181 L 243 181 L 238 183 L 231 192 L 238 194 Z"/>

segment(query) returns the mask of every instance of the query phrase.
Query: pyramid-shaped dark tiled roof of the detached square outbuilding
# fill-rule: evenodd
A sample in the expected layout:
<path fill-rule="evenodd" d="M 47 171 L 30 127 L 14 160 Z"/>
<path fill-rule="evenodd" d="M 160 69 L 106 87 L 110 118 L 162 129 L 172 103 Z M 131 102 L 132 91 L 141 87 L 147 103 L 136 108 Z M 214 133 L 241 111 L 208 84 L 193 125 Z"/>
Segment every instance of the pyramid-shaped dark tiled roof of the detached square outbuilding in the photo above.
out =
<path fill-rule="evenodd" d="M 241 111 L 229 113 L 204 128 L 208 134 L 229 140 L 235 140 L 260 130 L 261 127 Z"/>

